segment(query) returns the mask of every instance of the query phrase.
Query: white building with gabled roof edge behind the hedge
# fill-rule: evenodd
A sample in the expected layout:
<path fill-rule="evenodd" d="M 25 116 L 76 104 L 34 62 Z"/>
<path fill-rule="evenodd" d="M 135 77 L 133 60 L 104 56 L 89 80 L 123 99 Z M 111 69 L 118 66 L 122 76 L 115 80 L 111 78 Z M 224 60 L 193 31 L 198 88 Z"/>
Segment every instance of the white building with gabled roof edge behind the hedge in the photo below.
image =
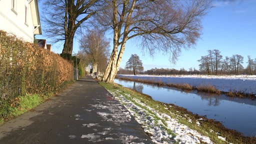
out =
<path fill-rule="evenodd" d="M 0 30 L 33 42 L 41 34 L 37 0 L 0 0 Z"/>

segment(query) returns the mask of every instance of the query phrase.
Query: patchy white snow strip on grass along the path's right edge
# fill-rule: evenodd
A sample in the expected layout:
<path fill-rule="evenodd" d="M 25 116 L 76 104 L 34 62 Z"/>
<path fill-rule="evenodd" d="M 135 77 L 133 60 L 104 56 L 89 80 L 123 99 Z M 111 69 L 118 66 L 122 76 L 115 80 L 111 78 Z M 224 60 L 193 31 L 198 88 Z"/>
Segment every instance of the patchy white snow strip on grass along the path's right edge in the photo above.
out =
<path fill-rule="evenodd" d="M 135 101 L 132 102 L 127 100 L 125 96 L 120 94 L 117 90 L 109 90 L 109 92 L 128 109 L 143 130 L 146 133 L 150 133 L 150 138 L 154 143 L 200 143 L 200 141 L 213 143 L 209 137 L 198 133 L 196 130 L 190 129 L 184 124 L 180 124 L 176 119 L 171 118 L 167 114 L 158 113 L 138 99 L 132 98 L 132 100 Z M 142 107 L 139 105 L 142 105 Z M 167 126 L 159 119 L 164 119 Z M 171 130 L 174 134 L 169 133 L 166 129 Z"/>

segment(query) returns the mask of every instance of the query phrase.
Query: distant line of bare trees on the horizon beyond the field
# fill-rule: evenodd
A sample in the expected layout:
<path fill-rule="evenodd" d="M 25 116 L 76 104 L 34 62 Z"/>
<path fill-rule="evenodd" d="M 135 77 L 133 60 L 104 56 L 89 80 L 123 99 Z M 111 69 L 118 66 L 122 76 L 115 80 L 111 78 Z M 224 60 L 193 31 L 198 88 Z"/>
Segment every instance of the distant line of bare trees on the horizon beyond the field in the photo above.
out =
<path fill-rule="evenodd" d="M 151 68 L 145 71 L 138 71 L 138 74 L 150 74 L 150 75 L 180 75 L 180 74 L 208 74 L 208 75 L 221 75 L 221 74 L 256 74 L 256 58 L 247 56 L 247 66 L 242 66 L 243 56 L 239 54 L 233 54 L 228 57 L 220 54 L 218 49 L 208 50 L 208 54 L 201 56 L 199 70 L 190 67 L 188 70 L 180 68 L 179 70 L 174 68 Z M 117 74 L 133 74 L 132 70 L 120 68 Z"/>

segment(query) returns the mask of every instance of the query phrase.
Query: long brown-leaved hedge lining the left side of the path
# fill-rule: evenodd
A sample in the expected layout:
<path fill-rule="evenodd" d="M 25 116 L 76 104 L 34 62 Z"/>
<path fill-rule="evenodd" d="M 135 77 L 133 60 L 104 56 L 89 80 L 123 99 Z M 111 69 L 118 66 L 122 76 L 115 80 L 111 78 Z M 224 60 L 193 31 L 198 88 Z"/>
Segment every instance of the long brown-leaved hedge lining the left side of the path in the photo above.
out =
<path fill-rule="evenodd" d="M 0 31 L 0 119 L 19 96 L 55 93 L 73 80 L 73 66 L 58 54 Z"/>

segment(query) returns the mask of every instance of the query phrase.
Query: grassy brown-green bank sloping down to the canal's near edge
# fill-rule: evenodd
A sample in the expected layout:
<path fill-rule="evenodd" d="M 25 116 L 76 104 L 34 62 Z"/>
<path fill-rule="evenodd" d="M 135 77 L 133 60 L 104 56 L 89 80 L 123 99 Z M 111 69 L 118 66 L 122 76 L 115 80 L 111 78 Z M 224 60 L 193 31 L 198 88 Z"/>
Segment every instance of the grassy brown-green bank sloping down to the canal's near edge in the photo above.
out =
<path fill-rule="evenodd" d="M 208 136 L 214 143 L 253 143 L 256 141 L 256 137 L 243 136 L 241 133 L 235 130 L 225 128 L 218 121 L 193 114 L 192 112 L 187 111 L 185 108 L 176 106 L 174 104 L 155 101 L 146 94 L 122 87 L 118 84 L 107 84 L 104 82 L 100 82 L 100 84 L 104 86 L 108 91 L 114 91 L 124 96 L 130 95 L 130 97 L 127 97 L 127 99 L 138 99 L 145 105 L 155 109 L 158 113 L 165 113 L 177 119 L 181 124 L 187 125 L 189 128 L 194 129 L 205 136 Z M 225 137 L 226 141 L 221 140 L 219 138 L 220 136 Z"/>

